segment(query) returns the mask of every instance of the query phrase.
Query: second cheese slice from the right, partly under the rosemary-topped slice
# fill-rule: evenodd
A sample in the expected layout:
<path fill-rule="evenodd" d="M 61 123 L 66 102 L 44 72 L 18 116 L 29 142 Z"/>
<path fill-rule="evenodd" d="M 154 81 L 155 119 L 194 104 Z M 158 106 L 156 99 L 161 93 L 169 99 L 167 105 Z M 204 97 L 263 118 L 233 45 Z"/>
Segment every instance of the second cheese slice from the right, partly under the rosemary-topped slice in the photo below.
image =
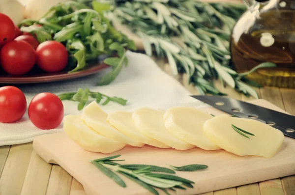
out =
<path fill-rule="evenodd" d="M 166 128 L 177 138 L 204 150 L 219 150 L 204 133 L 203 125 L 213 116 L 191 107 L 174 107 L 164 114 Z"/>

